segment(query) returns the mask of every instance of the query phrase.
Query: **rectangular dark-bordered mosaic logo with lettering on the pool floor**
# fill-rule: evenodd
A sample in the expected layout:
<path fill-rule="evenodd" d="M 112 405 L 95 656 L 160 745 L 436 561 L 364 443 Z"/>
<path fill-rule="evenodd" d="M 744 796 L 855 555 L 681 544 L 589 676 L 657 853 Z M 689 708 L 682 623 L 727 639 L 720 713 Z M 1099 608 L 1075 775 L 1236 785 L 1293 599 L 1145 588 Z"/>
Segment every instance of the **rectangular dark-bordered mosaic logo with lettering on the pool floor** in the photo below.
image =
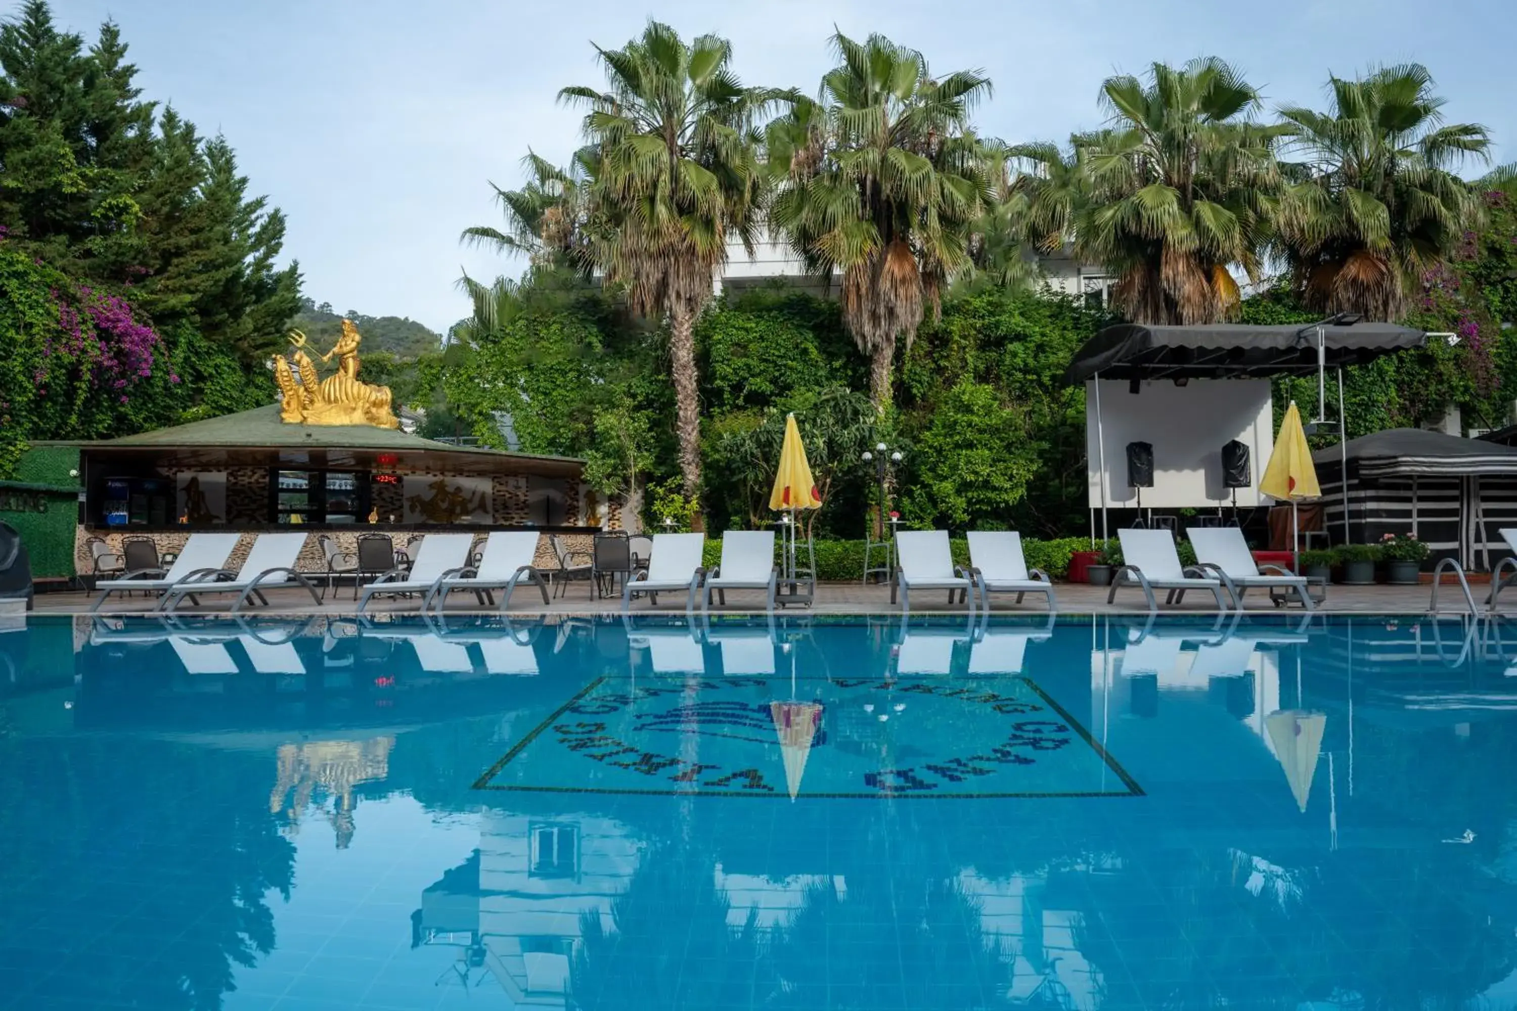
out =
<path fill-rule="evenodd" d="M 475 788 L 790 799 L 1142 794 L 1025 678 L 602 678 Z"/>

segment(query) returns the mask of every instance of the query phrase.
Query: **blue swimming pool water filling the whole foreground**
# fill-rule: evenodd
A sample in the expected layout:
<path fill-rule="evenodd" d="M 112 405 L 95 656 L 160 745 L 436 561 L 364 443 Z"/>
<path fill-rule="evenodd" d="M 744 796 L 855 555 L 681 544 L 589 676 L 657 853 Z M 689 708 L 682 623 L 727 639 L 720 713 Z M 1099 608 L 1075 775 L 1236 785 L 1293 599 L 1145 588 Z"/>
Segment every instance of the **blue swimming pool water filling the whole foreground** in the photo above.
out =
<path fill-rule="evenodd" d="M 0 1008 L 1508 1008 L 1517 626 L 33 620 Z"/>

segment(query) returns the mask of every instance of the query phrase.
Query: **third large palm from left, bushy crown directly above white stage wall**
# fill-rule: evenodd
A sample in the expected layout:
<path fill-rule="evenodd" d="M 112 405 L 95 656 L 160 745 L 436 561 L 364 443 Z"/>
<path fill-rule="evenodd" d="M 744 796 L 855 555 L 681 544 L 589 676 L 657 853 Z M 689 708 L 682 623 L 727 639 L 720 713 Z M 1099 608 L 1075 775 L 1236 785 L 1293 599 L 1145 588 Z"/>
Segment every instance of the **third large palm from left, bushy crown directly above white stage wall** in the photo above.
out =
<path fill-rule="evenodd" d="M 1109 77 L 1101 105 L 1110 129 L 1077 139 L 1076 255 L 1118 274 L 1112 296 L 1136 323 L 1224 318 L 1239 300 L 1229 265 L 1256 276 L 1268 238 L 1282 127 L 1250 120 L 1258 92 L 1215 58 Z"/>

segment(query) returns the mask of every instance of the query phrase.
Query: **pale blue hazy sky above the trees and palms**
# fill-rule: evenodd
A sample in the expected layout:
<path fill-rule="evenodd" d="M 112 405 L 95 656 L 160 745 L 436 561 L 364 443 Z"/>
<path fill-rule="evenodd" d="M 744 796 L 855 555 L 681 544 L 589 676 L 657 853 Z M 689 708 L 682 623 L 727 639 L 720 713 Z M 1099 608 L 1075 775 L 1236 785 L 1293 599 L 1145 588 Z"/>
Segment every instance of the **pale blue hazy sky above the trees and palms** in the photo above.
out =
<path fill-rule="evenodd" d="M 1511 0 L 53 0 L 94 38 L 114 18 L 144 95 L 237 149 L 252 192 L 288 218 L 285 256 L 338 312 L 402 315 L 444 330 L 467 312 L 455 282 L 523 264 L 464 249 L 498 224 L 490 182 L 517 188 L 528 149 L 558 164 L 579 118 L 566 85 L 602 86 L 592 42 L 623 44 L 649 18 L 733 41 L 745 83 L 815 94 L 833 30 L 919 49 L 933 73 L 977 68 L 994 97 L 983 135 L 1063 139 L 1100 126 L 1113 73 L 1227 59 L 1268 106 L 1324 106 L 1327 74 L 1417 61 L 1452 123 L 1482 123 L 1517 161 Z M 1479 174 L 1478 167 L 1465 174 Z"/>

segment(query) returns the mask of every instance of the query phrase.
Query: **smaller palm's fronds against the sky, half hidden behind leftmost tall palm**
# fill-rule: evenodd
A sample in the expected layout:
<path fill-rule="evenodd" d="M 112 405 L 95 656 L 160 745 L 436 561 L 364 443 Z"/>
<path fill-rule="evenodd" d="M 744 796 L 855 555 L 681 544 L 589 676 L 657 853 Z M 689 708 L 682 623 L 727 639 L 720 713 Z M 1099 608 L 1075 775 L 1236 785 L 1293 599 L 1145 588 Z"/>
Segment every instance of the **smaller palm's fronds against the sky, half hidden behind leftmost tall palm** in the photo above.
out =
<path fill-rule="evenodd" d="M 498 253 L 523 255 L 532 268 L 584 270 L 584 224 L 598 168 L 595 150 L 575 152 L 569 168 L 560 168 L 534 152 L 526 153 L 522 165 L 528 182 L 520 189 L 501 189 L 490 183 L 505 215 L 505 230 L 476 224 L 464 229 L 461 241 Z"/>

